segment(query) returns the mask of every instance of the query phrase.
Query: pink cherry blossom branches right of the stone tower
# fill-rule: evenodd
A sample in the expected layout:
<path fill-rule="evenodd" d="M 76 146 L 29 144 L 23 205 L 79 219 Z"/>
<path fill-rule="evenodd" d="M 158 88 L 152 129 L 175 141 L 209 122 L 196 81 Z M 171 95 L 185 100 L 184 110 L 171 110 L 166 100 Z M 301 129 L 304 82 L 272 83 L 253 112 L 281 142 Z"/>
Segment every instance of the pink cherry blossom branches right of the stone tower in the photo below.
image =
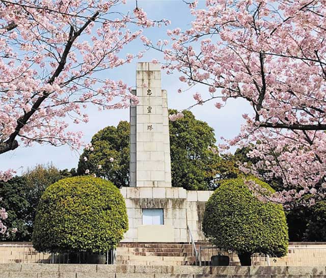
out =
<path fill-rule="evenodd" d="M 146 45 L 164 52 L 168 73 L 181 73 L 185 86 L 203 84 L 197 104 L 247 100 L 252 115 L 228 146 L 249 145 L 251 169 L 282 178 L 273 200 L 291 203 L 310 194 L 326 196 L 326 1 L 206 0 L 188 3 L 195 17 L 188 30 L 168 32 L 166 41 Z M 182 90 L 179 89 L 179 92 Z"/>

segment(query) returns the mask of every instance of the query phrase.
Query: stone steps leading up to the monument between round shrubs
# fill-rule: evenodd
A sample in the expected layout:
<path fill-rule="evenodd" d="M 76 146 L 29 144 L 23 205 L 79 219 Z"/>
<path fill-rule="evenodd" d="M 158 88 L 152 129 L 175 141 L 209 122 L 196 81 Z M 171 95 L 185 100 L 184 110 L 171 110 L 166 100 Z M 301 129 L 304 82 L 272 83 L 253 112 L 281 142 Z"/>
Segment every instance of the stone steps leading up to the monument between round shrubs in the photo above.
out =
<path fill-rule="evenodd" d="M 184 242 L 121 242 L 118 265 L 195 265 L 192 245 Z"/>

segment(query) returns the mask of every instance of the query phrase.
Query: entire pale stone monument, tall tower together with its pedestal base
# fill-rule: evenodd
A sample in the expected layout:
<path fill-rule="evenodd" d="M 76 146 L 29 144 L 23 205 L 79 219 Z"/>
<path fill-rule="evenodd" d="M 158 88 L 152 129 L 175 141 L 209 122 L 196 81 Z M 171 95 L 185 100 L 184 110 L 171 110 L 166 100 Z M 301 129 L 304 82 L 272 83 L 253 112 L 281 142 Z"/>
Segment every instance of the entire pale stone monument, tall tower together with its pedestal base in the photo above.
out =
<path fill-rule="evenodd" d="M 130 187 L 126 201 L 129 230 L 124 242 L 185 242 L 205 239 L 201 219 L 211 191 L 187 191 L 171 185 L 167 92 L 160 66 L 138 63 L 139 103 L 130 107 Z"/>

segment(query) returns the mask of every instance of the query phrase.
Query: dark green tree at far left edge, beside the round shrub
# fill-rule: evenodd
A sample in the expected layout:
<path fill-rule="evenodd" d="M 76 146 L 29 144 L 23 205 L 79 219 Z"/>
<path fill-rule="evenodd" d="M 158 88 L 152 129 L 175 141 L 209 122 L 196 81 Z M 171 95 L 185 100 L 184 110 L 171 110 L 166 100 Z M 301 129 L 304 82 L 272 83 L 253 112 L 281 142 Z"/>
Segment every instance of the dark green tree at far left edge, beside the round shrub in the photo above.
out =
<path fill-rule="evenodd" d="M 1 241 L 24 241 L 30 239 L 32 230 L 31 206 L 28 201 L 29 190 L 24 177 L 14 177 L 7 182 L 0 181 L 0 208 L 5 208 L 8 218 L 4 220 L 8 236 L 0 235 Z M 11 233 L 17 228 L 17 233 Z"/>

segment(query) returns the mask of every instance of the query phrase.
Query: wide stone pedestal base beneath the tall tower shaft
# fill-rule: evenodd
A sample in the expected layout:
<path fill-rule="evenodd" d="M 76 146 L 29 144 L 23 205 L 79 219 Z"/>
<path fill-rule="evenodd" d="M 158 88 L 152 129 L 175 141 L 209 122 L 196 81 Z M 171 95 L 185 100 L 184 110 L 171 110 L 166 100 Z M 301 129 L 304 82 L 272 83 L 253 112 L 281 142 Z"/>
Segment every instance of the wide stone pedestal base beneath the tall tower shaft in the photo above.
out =
<path fill-rule="evenodd" d="M 186 242 L 187 226 L 195 241 L 202 232 L 205 203 L 213 191 L 189 191 L 178 187 L 123 187 L 129 230 L 122 242 Z M 163 209 L 164 225 L 143 225 L 143 209 Z"/>

